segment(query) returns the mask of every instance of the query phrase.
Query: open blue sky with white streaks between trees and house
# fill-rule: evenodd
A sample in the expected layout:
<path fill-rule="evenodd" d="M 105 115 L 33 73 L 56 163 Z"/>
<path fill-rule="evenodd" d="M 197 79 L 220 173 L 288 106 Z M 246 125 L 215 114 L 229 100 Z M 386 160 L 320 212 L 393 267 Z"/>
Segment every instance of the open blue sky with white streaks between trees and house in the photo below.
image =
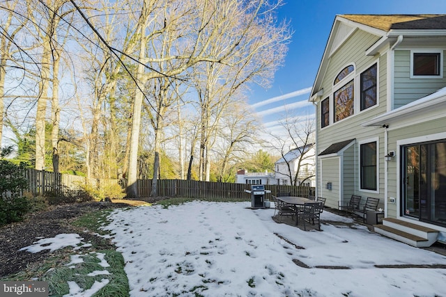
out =
<path fill-rule="evenodd" d="M 294 31 L 284 65 L 272 88 L 253 88 L 249 104 L 266 127 L 289 115 L 314 115 L 307 102 L 336 15 L 442 14 L 445 0 L 285 0 L 279 19 L 291 20 Z"/>

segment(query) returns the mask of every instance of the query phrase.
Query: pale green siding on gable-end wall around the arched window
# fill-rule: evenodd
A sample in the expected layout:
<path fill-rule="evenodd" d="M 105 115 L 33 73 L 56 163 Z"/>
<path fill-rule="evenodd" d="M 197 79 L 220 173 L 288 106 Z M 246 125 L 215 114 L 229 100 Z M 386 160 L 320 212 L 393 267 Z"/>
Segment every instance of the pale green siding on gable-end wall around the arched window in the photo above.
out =
<path fill-rule="evenodd" d="M 349 198 L 353 193 L 357 193 L 359 190 L 359 175 L 357 173 L 357 158 L 358 156 L 354 156 L 353 152 L 358 152 L 357 141 L 362 141 L 364 139 L 374 138 L 376 134 L 379 135 L 379 151 L 383 156 L 383 129 L 378 129 L 376 127 L 362 127 L 362 122 L 366 122 L 367 120 L 371 120 L 375 118 L 377 115 L 381 113 L 385 113 L 387 111 L 387 54 L 383 54 L 379 58 L 376 56 L 366 56 L 364 53 L 366 49 L 368 49 L 371 45 L 376 41 L 376 36 L 366 33 L 364 31 L 357 30 L 355 33 L 351 35 L 344 45 L 339 47 L 336 53 L 330 57 L 330 62 L 325 72 L 323 79 L 323 90 L 324 94 L 321 97 L 321 100 L 325 99 L 330 95 L 332 97 L 333 93 L 333 82 L 334 78 L 339 74 L 339 72 L 346 67 L 347 65 L 354 64 L 355 65 L 355 105 L 359 107 L 359 79 L 361 72 L 367 70 L 368 67 L 373 65 L 373 63 L 378 63 L 378 104 L 369 109 L 366 109 L 362 112 L 355 111 L 354 115 L 341 120 L 339 122 L 335 122 L 330 124 L 328 127 L 324 127 L 321 129 L 321 104 L 317 105 L 317 129 L 318 129 L 318 154 L 329 147 L 332 143 L 338 143 L 340 141 L 346 141 L 347 139 L 356 138 L 356 143 L 351 147 L 348 151 L 345 152 L 344 155 L 344 199 Z M 358 109 L 359 110 L 359 109 Z M 333 101 L 330 102 L 330 113 L 332 116 L 333 113 Z M 356 158 L 356 160 L 353 159 Z M 382 159 L 381 157 L 379 159 Z M 318 163 L 320 166 L 320 163 Z M 380 162 L 380 166 L 383 166 L 383 163 Z M 321 168 L 318 168 L 321 170 Z M 319 171 L 321 172 L 321 171 Z M 384 187 L 384 175 L 383 169 L 379 170 L 380 172 L 380 183 L 379 183 L 379 192 L 383 192 Z M 323 187 L 325 186 L 324 183 Z M 318 183 L 316 186 L 320 186 Z M 322 190 L 325 193 L 325 189 L 318 188 L 318 190 Z M 361 195 L 361 194 L 360 194 Z M 339 197 L 339 196 L 338 196 Z M 375 195 L 378 197 L 378 195 Z M 339 198 L 338 198 L 339 199 Z M 328 202 L 326 202 L 328 203 Z M 328 204 L 327 204 L 328 205 Z M 336 206 L 337 207 L 337 206 Z"/>

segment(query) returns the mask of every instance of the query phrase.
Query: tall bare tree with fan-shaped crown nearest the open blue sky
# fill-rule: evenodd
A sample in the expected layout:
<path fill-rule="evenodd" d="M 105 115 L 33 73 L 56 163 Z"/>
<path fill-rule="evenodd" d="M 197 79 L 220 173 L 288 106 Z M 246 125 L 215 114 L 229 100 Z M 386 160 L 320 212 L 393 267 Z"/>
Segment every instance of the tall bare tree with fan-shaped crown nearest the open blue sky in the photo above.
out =
<path fill-rule="evenodd" d="M 220 40 L 212 43 L 208 51 L 218 56 L 226 52 L 226 47 L 231 45 L 235 36 L 240 36 L 240 41 L 224 61 L 207 61 L 206 65 L 199 65 L 195 71 L 194 81 L 201 115 L 200 180 L 209 180 L 210 143 L 215 138 L 219 122 L 232 97 L 243 93 L 248 83 L 268 86 L 286 54 L 286 42 L 290 37 L 287 25 L 276 26 L 270 14 L 272 10 L 263 11 L 266 8 L 270 7 L 263 1 L 252 1 L 247 6 L 233 1 L 222 4 L 218 13 L 230 17 L 222 17 L 222 21 L 217 22 L 224 22 L 219 25 L 231 34 L 221 35 Z M 247 19 L 247 23 L 242 19 Z"/>

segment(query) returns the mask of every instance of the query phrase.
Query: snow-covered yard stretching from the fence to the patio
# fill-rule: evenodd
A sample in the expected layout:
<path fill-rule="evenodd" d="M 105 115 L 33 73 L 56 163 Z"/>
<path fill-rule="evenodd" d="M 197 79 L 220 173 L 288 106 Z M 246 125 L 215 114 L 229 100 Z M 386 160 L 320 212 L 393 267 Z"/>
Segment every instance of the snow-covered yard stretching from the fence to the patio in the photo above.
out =
<path fill-rule="evenodd" d="M 446 296 L 446 269 L 375 266 L 445 265 L 442 255 L 361 225 L 305 232 L 275 223 L 274 209 L 246 207 L 195 201 L 115 210 L 105 229 L 125 259 L 130 296 Z M 321 218 L 352 222 L 328 211 Z"/>

